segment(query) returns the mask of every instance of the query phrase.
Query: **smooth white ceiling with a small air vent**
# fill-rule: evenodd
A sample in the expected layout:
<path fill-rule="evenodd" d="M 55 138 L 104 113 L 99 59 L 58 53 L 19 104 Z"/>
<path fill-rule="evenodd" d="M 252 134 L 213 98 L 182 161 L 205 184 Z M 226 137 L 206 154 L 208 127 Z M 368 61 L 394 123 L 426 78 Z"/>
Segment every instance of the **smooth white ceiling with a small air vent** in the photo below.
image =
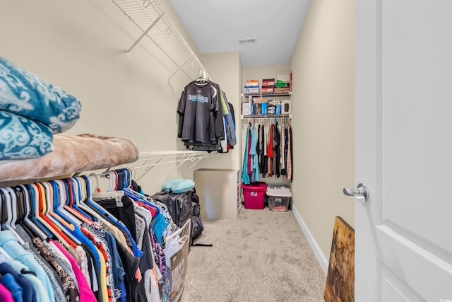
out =
<path fill-rule="evenodd" d="M 169 0 L 202 54 L 239 51 L 242 66 L 289 64 L 311 0 Z M 239 39 L 256 38 L 240 44 Z"/>

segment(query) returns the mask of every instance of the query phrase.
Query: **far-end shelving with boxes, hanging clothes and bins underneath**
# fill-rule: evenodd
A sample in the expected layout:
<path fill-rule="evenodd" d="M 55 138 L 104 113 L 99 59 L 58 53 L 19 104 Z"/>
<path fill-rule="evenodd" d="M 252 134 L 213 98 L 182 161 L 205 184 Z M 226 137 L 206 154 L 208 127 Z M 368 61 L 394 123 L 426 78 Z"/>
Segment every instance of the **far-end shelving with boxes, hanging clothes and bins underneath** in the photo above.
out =
<path fill-rule="evenodd" d="M 279 75 L 276 78 L 284 79 Z M 263 79 L 261 86 L 250 86 L 251 83 L 256 83 L 256 80 L 246 81 L 241 95 L 241 117 L 249 120 L 242 122 L 242 190 L 246 209 L 263 209 L 265 206 L 261 199 L 258 207 L 249 204 L 250 198 L 258 196 L 258 190 L 251 190 L 253 197 L 245 194 L 250 185 L 266 183 L 290 187 L 292 182 L 292 85 L 289 81 L 278 81 L 277 86 L 276 79 Z M 265 190 L 262 194 L 266 194 Z M 287 211 L 287 198 L 276 196 L 271 201 L 273 211 Z"/>

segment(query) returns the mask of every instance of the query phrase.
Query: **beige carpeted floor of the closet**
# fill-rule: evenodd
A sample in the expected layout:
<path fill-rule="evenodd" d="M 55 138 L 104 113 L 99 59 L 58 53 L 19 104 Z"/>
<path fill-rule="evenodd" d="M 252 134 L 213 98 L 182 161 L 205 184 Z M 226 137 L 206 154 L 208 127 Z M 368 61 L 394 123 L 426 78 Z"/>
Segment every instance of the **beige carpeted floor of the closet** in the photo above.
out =
<path fill-rule="evenodd" d="M 203 221 L 181 302 L 324 301 L 326 276 L 292 211 L 242 209 L 237 221 Z"/>

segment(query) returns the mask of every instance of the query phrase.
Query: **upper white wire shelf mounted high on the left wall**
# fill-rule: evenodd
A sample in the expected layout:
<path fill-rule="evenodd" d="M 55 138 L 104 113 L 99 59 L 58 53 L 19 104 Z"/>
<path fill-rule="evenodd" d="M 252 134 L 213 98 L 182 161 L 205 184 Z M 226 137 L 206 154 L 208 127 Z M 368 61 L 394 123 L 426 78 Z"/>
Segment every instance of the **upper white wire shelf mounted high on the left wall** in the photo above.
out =
<path fill-rule="evenodd" d="M 141 36 L 127 50 L 128 55 L 133 47 L 146 36 L 176 66 L 167 82 L 178 71 L 182 71 L 191 80 L 196 79 L 199 69 L 206 72 L 203 64 L 157 0 L 112 0 L 112 2 L 141 31 Z"/>

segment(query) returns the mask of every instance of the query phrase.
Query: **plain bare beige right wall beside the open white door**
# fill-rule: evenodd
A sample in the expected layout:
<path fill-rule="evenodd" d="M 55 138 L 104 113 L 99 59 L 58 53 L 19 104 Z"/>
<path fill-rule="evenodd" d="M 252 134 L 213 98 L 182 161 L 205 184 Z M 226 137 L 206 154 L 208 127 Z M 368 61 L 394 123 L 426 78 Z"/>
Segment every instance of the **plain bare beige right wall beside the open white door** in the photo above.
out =
<path fill-rule="evenodd" d="M 294 207 L 329 259 L 335 216 L 354 226 L 355 1 L 316 0 L 292 55 Z"/>

